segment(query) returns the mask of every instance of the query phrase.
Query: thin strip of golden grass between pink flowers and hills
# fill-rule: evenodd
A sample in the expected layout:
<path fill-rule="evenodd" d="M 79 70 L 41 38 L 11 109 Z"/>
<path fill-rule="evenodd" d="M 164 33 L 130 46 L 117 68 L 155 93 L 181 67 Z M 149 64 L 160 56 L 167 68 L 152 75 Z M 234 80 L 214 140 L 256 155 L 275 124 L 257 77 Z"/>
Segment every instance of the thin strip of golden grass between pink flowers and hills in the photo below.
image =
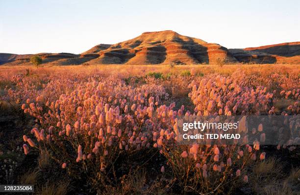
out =
<path fill-rule="evenodd" d="M 16 73 L 25 73 L 25 69 L 30 69 L 32 74 L 47 74 L 49 71 L 72 71 L 80 73 L 80 70 L 85 70 L 85 72 L 107 72 L 110 74 L 125 74 L 125 75 L 145 75 L 149 72 L 161 72 L 161 73 L 174 73 L 180 74 L 183 70 L 191 70 L 194 68 L 196 72 L 202 74 L 209 73 L 220 73 L 229 75 L 236 71 L 237 69 L 241 69 L 249 74 L 272 74 L 275 72 L 281 72 L 281 74 L 285 73 L 298 73 L 300 72 L 300 65 L 279 65 L 279 64 L 266 64 L 266 65 L 224 65 L 223 67 L 217 65 L 176 65 L 172 68 L 170 65 L 68 65 L 68 66 L 43 66 L 36 68 L 34 66 L 7 66 L 1 65 L 0 71 L 7 71 L 9 74 L 9 70 L 13 68 L 14 75 Z"/>

